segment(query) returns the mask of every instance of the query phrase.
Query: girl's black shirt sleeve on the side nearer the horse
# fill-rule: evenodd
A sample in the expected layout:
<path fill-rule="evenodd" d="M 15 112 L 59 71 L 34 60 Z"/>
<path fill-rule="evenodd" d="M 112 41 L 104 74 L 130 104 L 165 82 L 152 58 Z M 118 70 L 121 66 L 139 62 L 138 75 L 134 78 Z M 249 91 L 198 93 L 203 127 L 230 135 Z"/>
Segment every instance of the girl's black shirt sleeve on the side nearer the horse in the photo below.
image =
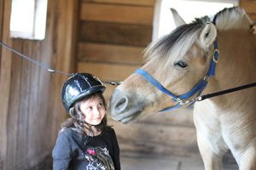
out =
<path fill-rule="evenodd" d="M 114 130 L 112 129 L 113 140 L 113 165 L 115 170 L 120 170 L 119 143 Z"/>

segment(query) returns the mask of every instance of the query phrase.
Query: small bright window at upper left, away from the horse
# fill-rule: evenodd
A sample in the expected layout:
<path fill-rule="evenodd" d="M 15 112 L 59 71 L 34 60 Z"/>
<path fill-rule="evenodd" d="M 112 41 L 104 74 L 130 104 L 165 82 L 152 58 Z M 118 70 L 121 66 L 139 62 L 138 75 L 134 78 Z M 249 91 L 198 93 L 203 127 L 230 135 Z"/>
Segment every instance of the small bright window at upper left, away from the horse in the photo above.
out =
<path fill-rule="evenodd" d="M 47 0 L 12 0 L 10 37 L 43 40 Z"/>

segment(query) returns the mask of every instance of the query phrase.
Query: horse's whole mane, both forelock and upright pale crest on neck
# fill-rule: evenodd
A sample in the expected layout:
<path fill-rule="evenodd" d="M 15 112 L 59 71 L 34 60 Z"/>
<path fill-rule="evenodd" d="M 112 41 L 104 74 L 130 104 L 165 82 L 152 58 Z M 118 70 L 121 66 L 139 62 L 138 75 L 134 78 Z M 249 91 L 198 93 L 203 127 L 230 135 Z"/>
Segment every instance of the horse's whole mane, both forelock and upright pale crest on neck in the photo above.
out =
<path fill-rule="evenodd" d="M 195 18 L 189 24 L 178 26 L 170 34 L 160 38 L 159 41 L 151 42 L 148 48 L 145 49 L 143 58 L 149 61 L 156 58 L 166 59 L 166 57 L 172 55 L 172 60 L 174 60 L 178 56 L 183 56 L 194 44 L 207 22 L 213 22 L 218 31 L 248 29 L 253 25 L 253 21 L 250 20 L 244 9 L 239 7 L 224 8 L 215 14 L 213 21 L 208 16 Z M 170 62 L 170 59 L 166 59 L 166 61 Z M 165 62 L 166 65 L 169 65 L 169 62 Z"/>

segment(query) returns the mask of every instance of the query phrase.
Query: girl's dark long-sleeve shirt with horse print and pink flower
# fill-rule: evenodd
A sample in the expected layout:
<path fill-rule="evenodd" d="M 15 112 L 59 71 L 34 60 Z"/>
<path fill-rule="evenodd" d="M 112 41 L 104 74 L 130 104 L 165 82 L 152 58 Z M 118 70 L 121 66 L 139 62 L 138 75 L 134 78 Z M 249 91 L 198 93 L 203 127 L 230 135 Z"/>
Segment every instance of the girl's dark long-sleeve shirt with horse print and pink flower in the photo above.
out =
<path fill-rule="evenodd" d="M 119 144 L 111 127 L 94 137 L 67 128 L 59 134 L 52 156 L 54 170 L 121 169 Z"/>

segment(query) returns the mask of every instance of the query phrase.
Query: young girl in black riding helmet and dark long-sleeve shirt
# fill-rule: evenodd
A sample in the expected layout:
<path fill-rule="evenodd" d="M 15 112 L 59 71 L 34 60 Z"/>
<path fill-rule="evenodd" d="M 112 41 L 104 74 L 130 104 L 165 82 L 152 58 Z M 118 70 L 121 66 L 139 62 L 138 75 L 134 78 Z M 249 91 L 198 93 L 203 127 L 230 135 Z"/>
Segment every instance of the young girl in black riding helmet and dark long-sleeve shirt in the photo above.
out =
<path fill-rule="evenodd" d="M 76 73 L 61 89 L 62 103 L 71 116 L 61 126 L 52 152 L 53 169 L 119 170 L 119 144 L 107 124 L 105 90 L 88 73 Z"/>

